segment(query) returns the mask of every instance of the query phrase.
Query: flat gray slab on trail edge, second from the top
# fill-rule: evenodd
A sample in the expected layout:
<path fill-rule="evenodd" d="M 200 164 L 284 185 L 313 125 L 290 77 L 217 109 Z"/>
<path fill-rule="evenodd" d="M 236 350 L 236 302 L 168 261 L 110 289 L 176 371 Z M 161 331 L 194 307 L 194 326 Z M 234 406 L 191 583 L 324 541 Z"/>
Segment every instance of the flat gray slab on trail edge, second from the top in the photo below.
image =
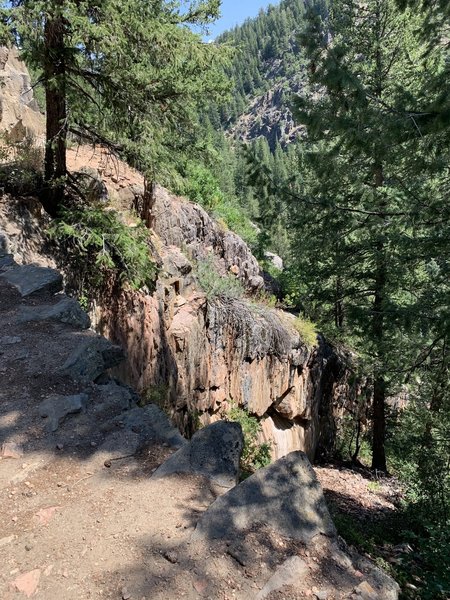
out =
<path fill-rule="evenodd" d="M 17 315 L 19 323 L 32 321 L 57 321 L 77 329 L 89 329 L 91 320 L 73 298 L 63 298 L 51 306 L 21 306 Z"/>

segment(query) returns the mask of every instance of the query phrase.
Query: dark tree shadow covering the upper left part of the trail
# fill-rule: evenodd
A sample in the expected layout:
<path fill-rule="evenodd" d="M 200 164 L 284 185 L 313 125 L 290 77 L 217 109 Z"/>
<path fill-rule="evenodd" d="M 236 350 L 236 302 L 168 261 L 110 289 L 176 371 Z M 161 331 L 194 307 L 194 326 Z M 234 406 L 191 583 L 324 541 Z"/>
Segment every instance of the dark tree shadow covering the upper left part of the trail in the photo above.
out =
<path fill-rule="evenodd" d="M 99 455 L 96 467 L 109 474 L 149 474 L 183 442 L 165 416 L 155 406 L 138 407 L 137 394 L 108 375 L 99 383 L 81 382 L 62 369 L 77 348 L 99 336 L 61 322 L 19 318 L 24 309 L 52 306 L 62 297 L 22 298 L 0 278 L 0 448 L 8 457 L 0 461 L 0 484 L 7 483 L 6 467 L 11 472 L 20 468 L 18 458 L 28 462 L 36 455 L 48 461 L 70 457 L 86 466 Z M 78 404 L 43 418 L 44 401 L 55 396 L 55 406 L 61 397 L 75 396 Z M 130 457 L 136 459 L 133 469 L 116 468 Z"/>

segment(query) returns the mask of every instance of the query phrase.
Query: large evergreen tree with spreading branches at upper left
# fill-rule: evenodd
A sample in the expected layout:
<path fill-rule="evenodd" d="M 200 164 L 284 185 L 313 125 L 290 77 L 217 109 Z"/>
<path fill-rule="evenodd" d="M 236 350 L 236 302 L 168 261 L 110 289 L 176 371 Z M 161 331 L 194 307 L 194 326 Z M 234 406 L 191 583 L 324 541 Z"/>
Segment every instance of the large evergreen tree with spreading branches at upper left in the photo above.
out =
<path fill-rule="evenodd" d="M 218 16 L 219 0 L 13 0 L 5 16 L 46 92 L 46 207 L 62 202 L 69 132 L 121 149 L 156 170 L 193 108 L 223 77 L 220 52 L 188 26 Z M 175 135 L 178 130 L 178 136 Z"/>

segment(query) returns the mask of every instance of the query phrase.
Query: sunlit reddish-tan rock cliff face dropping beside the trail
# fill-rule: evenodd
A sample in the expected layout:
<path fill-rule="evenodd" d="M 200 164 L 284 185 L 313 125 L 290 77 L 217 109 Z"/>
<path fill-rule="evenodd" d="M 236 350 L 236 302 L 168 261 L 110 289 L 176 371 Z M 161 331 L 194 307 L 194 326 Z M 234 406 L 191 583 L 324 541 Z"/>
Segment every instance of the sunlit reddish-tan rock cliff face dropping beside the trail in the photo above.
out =
<path fill-rule="evenodd" d="M 207 299 L 196 264 L 208 253 L 217 273 L 235 273 L 250 291 L 262 279 L 245 243 L 202 208 L 158 188 L 152 222 L 155 293 L 122 292 L 96 310 L 99 330 L 128 352 L 120 376 L 150 398 L 157 393 L 184 433 L 237 404 L 261 418 L 274 457 L 297 449 L 314 456 L 321 436 L 333 437 L 342 359 L 323 340 L 307 348 L 288 313 L 251 297 Z"/>

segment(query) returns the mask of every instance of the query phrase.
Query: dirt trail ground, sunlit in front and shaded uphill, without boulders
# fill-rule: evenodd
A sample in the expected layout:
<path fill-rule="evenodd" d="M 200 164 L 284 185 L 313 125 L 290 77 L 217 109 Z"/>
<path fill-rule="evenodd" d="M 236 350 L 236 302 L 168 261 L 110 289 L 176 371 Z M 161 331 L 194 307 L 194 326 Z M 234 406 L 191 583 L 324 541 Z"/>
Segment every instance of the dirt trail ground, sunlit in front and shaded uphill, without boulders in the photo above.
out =
<path fill-rule="evenodd" d="M 0 597 L 169 597 L 164 577 L 174 567 L 162 553 L 186 542 L 215 496 L 199 477 L 150 479 L 173 451 L 162 441 L 105 467 L 105 440 L 128 434 L 114 424 L 114 386 L 80 386 L 60 373 L 92 332 L 18 322 L 23 307 L 56 302 L 48 294 L 24 300 L 0 279 Z M 49 431 L 42 401 L 80 391 L 89 394 L 87 411 Z M 189 577 L 195 582 L 184 574 L 182 592 L 198 597 Z"/>

